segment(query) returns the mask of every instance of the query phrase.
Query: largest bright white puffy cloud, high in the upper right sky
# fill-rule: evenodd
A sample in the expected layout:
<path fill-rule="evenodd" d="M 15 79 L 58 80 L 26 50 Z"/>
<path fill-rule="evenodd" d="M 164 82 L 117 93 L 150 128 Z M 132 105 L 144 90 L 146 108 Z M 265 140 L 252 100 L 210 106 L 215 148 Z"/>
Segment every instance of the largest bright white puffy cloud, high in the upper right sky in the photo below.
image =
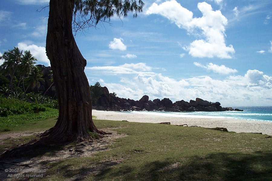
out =
<path fill-rule="evenodd" d="M 195 40 L 183 47 L 191 56 L 232 58 L 235 50 L 232 45 L 226 46 L 225 44 L 227 18 L 222 15 L 221 11 L 213 11 L 212 6 L 206 2 L 198 3 L 197 7 L 202 12 L 202 17 L 193 18 L 193 12 L 182 7 L 176 0 L 163 2 L 160 5 L 153 3 L 146 14 L 160 14 L 189 33 L 201 30 L 202 39 Z"/>

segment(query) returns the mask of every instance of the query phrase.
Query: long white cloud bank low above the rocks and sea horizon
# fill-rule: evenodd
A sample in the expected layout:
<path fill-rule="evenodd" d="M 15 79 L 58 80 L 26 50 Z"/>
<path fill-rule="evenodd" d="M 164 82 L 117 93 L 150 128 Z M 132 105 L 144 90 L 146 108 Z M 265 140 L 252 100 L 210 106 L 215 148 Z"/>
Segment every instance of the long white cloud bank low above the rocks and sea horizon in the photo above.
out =
<path fill-rule="evenodd" d="M 218 73 L 224 70 L 236 72 L 235 69 L 223 65 L 202 66 Z M 139 100 L 146 94 L 150 100 L 167 97 L 172 101 L 189 101 L 200 97 L 209 101 L 219 101 L 223 106 L 272 105 L 272 77 L 258 70 L 248 70 L 244 75 L 232 75 L 224 80 L 209 76 L 177 80 L 155 73 L 153 70 L 156 68 L 145 63 L 89 67 L 86 71 L 89 69 L 92 74 L 99 75 L 102 86 L 108 87 L 110 92 L 116 92 L 118 97 Z M 106 76 L 119 81 L 108 83 L 103 80 Z"/>

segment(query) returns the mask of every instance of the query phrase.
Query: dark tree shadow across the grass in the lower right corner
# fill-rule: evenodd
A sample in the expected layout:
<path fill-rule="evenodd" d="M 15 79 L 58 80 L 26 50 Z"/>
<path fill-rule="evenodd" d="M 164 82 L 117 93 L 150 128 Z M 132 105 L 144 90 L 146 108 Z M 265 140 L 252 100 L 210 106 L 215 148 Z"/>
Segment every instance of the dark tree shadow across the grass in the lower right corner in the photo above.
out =
<path fill-rule="evenodd" d="M 135 168 L 134 168 L 135 169 Z M 145 164 L 136 175 L 133 169 L 106 168 L 96 175 L 96 180 L 121 176 L 121 180 L 272 180 L 272 152 L 252 154 L 215 153 L 207 157 L 191 157 L 186 163 L 158 160 Z"/>

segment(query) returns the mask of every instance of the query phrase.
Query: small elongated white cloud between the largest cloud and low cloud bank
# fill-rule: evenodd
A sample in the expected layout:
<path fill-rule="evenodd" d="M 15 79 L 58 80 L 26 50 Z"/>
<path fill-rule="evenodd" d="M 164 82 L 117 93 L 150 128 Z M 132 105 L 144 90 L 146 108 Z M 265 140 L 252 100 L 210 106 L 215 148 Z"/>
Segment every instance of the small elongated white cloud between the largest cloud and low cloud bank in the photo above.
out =
<path fill-rule="evenodd" d="M 236 69 L 228 68 L 225 65 L 216 65 L 213 63 L 209 63 L 207 65 L 202 65 L 199 62 L 194 62 L 194 65 L 196 65 L 197 67 L 204 68 L 208 71 L 213 71 L 215 73 L 225 74 L 225 75 L 238 72 Z"/>

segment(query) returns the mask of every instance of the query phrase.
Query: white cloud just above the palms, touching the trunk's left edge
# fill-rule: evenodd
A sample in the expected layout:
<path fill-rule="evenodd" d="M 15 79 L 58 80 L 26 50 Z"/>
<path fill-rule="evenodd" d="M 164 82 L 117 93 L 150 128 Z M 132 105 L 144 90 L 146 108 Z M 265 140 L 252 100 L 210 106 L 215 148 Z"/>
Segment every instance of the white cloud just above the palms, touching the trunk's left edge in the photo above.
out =
<path fill-rule="evenodd" d="M 38 62 L 45 63 L 50 66 L 50 61 L 47 58 L 45 47 L 37 46 L 35 44 L 27 45 L 26 43 L 18 43 L 17 47 L 23 51 L 30 50 L 31 54 L 38 60 Z"/>

